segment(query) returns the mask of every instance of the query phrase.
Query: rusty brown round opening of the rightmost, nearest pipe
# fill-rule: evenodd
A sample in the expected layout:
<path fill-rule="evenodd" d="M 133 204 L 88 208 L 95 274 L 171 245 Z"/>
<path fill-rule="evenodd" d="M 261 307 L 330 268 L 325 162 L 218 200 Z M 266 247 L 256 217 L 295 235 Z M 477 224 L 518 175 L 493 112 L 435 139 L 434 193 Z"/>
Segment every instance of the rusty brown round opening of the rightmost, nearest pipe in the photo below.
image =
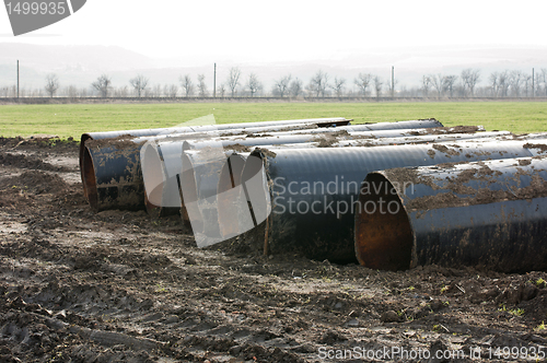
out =
<path fill-rule="evenodd" d="M 407 270 L 414 247 L 408 215 L 394 186 L 381 174 L 366 176 L 356 206 L 356 255 L 379 270 Z"/>

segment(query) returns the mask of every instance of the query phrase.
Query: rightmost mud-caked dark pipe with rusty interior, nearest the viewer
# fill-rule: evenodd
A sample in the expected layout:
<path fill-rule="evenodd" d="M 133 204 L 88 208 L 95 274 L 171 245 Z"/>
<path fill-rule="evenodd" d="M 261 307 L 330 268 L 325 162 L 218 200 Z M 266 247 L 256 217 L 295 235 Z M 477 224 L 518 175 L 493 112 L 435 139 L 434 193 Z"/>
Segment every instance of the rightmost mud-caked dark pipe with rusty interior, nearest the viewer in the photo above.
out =
<path fill-rule="evenodd" d="M 359 204 L 356 254 L 365 267 L 547 269 L 545 156 L 370 173 Z"/>

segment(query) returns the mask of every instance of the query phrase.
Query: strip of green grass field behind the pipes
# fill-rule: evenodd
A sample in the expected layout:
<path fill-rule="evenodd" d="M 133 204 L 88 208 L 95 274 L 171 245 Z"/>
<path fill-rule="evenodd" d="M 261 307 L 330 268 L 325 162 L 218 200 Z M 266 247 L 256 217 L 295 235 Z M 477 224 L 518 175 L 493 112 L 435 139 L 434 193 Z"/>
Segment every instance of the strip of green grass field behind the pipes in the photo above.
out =
<path fill-rule="evenodd" d="M 437 118 L 516 133 L 547 131 L 547 103 L 188 103 L 0 106 L 0 136 L 56 134 L 171 127 L 212 114 L 219 124 L 346 117 L 353 124 Z"/>

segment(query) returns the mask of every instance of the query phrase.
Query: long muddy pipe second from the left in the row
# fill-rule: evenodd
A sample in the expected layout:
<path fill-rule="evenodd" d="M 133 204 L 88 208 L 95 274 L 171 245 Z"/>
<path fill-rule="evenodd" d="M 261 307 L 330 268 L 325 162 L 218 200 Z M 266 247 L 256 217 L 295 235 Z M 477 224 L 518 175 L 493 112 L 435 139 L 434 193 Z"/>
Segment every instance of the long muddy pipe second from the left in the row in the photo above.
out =
<path fill-rule="evenodd" d="M 385 125 L 385 124 L 383 124 Z M 405 124 L 408 125 L 408 124 Z M 429 126 L 435 124 L 428 124 Z M 251 152 L 254 147 L 266 147 L 268 149 L 278 148 L 315 148 L 315 147 L 347 147 L 351 144 L 345 144 L 344 141 L 347 139 L 363 139 L 377 142 L 382 140 L 384 136 L 391 137 L 408 137 L 414 134 L 421 134 L 423 130 L 431 130 L 431 134 L 427 134 L 431 140 L 446 137 L 446 134 L 452 134 L 456 131 L 467 131 L 468 133 L 462 134 L 462 138 L 469 138 L 474 134 L 479 134 L 478 132 L 472 132 L 475 130 L 484 130 L 482 127 L 452 127 L 452 128 L 427 128 L 427 129 L 395 129 L 395 130 L 376 130 L 376 131 L 351 131 L 348 133 L 346 130 L 340 130 L 340 128 L 328 128 L 326 133 L 313 133 L 313 134 L 283 134 L 280 137 L 251 137 L 251 136 L 231 136 L 222 138 L 206 138 L 206 139 L 189 139 L 193 134 L 183 134 L 182 137 L 168 137 L 158 140 L 150 140 L 148 138 L 135 139 L 147 140 L 143 150 L 141 152 L 141 163 L 142 171 L 144 174 L 144 190 L 146 190 L 146 206 L 147 210 L 151 214 L 167 215 L 178 212 L 176 206 L 179 204 L 181 200 L 178 197 L 179 180 L 176 176 L 181 173 L 183 165 L 181 160 L 185 159 L 182 156 L 183 150 L 200 150 L 200 149 L 211 149 L 211 150 L 222 150 L 229 152 Z M 485 133 L 485 132 L 482 132 Z M 459 133 L 457 133 L 459 134 Z M 492 136 L 492 133 L 485 133 L 486 136 Z M 419 137 L 416 137 L 419 138 Z M 455 140 L 455 139 L 454 139 Z M 403 143 L 403 142 L 392 142 Z M 385 144 L 385 142 L 384 142 Z M 368 142 L 362 142 L 362 145 L 371 145 Z M 191 162 L 190 162 L 191 164 Z M 150 171 L 148 169 L 150 165 Z M 220 164 L 219 164 L 220 165 Z M 158 171 L 156 171 L 158 168 Z M 160 173 L 161 172 L 161 173 Z M 189 172 L 188 172 L 189 173 Z M 218 173 L 208 173 L 208 176 L 214 178 L 218 177 L 220 173 L 220 166 Z M 161 183 L 161 178 L 164 178 L 164 183 Z M 212 179 L 211 179 L 212 180 Z M 216 185 L 217 182 L 211 182 L 210 185 Z M 205 183 L 209 185 L 209 183 Z M 162 190 L 163 189 L 163 190 Z M 213 190 L 211 190 L 213 192 Z M 184 211 L 183 211 L 184 212 Z M 212 223 L 212 222 L 211 222 Z"/>

